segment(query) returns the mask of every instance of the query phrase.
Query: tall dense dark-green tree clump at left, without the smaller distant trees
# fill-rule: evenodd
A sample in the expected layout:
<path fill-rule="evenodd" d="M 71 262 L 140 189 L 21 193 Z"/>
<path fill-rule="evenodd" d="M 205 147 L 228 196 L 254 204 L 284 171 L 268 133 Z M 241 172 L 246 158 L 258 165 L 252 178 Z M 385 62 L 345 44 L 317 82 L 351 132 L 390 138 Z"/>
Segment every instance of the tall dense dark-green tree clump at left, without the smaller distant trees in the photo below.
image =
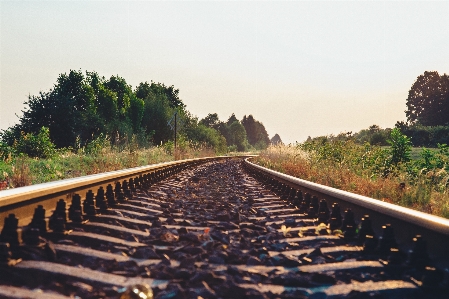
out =
<path fill-rule="evenodd" d="M 57 148 L 82 147 L 100 134 L 117 145 L 142 132 L 165 142 L 172 137 L 167 127 L 172 107 L 184 107 L 178 93 L 153 82 L 141 83 L 134 93 L 120 76 L 106 80 L 95 72 L 71 70 L 58 77 L 53 90 L 29 96 L 20 123 L 3 131 L 2 141 L 12 146 L 21 132 L 38 134 L 45 126 Z"/>

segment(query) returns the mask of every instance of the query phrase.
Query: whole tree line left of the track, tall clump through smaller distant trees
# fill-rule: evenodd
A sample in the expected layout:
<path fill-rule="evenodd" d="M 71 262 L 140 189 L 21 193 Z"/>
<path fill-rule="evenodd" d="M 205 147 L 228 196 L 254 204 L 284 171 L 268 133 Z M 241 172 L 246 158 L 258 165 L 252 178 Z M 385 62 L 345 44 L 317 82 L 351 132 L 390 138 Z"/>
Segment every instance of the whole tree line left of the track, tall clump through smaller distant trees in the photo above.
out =
<path fill-rule="evenodd" d="M 70 70 L 53 88 L 30 95 L 19 122 L 0 133 L 0 154 L 48 156 L 52 150 L 86 148 L 99 140 L 116 148 L 173 140 L 168 122 L 177 113 L 179 139 L 217 153 L 264 149 L 270 144 L 264 125 L 252 115 L 226 122 L 216 113 L 199 120 L 186 108 L 173 85 L 151 81 L 132 88 L 120 76 Z M 46 150 L 39 150 L 46 148 Z"/>

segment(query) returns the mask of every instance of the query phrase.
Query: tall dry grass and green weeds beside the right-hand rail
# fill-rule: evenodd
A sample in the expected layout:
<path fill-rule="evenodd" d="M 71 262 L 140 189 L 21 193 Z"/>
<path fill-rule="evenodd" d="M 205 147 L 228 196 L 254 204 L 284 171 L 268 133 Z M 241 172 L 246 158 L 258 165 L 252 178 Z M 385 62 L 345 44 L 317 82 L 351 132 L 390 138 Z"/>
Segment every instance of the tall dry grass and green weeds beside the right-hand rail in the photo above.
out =
<path fill-rule="evenodd" d="M 342 141 L 271 146 L 255 162 L 304 180 L 449 218 L 449 176 L 444 167 L 420 168 L 421 160 L 392 166 L 390 158 L 385 148 Z"/>

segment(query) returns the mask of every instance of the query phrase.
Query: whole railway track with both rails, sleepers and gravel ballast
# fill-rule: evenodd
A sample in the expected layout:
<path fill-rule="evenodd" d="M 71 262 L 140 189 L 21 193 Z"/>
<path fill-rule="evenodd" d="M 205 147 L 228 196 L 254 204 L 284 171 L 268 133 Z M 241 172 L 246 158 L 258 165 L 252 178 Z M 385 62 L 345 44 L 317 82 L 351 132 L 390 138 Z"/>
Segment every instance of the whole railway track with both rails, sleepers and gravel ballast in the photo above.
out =
<path fill-rule="evenodd" d="M 2 298 L 449 294 L 447 220 L 242 158 L 19 191 L 0 192 Z"/>

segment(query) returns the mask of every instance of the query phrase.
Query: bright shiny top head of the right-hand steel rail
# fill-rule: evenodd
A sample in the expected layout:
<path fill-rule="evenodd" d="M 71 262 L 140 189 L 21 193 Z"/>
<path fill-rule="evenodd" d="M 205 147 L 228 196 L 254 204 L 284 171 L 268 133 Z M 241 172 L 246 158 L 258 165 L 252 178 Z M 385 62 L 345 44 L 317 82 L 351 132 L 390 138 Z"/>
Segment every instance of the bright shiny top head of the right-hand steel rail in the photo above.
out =
<path fill-rule="evenodd" d="M 320 185 L 303 179 L 293 177 L 291 175 L 283 174 L 249 161 L 249 158 L 245 160 L 249 166 L 265 172 L 272 177 L 289 182 L 298 187 L 307 188 L 309 190 L 316 191 L 325 196 L 339 199 L 344 202 L 361 206 L 365 209 L 375 211 L 384 215 L 388 215 L 392 218 L 399 219 L 404 222 L 411 223 L 429 229 L 444 235 L 449 236 L 449 219 L 426 214 L 420 211 L 412 210 L 409 208 L 401 207 L 398 205 L 383 202 L 374 198 L 370 198 L 363 195 L 354 194 L 351 192 L 339 190 L 336 188 Z"/>

